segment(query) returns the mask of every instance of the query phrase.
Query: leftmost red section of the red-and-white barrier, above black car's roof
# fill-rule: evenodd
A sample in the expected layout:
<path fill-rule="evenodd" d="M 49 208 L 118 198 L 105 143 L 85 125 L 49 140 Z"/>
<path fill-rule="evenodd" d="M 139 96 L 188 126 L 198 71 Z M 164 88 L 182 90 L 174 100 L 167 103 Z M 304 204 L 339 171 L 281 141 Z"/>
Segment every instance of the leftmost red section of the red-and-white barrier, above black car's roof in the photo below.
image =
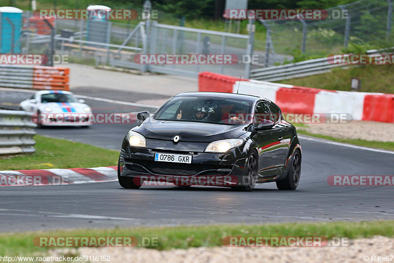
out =
<path fill-rule="evenodd" d="M 248 81 L 249 79 L 242 78 L 241 80 Z M 239 81 L 238 77 L 201 72 L 198 74 L 198 91 L 232 93 L 232 86 L 236 81 Z"/>

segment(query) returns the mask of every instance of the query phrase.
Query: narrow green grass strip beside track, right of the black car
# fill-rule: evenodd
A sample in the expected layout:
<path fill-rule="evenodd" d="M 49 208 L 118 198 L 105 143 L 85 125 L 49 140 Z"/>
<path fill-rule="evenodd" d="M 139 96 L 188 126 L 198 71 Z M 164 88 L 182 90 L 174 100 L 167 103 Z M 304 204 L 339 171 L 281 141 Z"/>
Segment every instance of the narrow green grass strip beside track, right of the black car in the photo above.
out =
<path fill-rule="evenodd" d="M 393 150 L 394 151 L 394 142 L 377 142 L 377 141 L 366 141 L 366 140 L 361 140 L 361 139 L 340 139 L 340 138 L 334 138 L 334 137 L 327 136 L 327 135 L 310 133 L 310 132 L 303 130 L 303 129 L 297 129 L 297 134 L 313 136 L 313 137 L 327 139 L 330 141 L 335 141 L 335 142 L 340 142 L 340 143 L 347 143 L 347 144 L 353 144 L 353 145 L 358 145 L 358 146 L 363 146 L 363 147 L 378 148 L 378 149 L 385 149 L 385 150 Z"/>

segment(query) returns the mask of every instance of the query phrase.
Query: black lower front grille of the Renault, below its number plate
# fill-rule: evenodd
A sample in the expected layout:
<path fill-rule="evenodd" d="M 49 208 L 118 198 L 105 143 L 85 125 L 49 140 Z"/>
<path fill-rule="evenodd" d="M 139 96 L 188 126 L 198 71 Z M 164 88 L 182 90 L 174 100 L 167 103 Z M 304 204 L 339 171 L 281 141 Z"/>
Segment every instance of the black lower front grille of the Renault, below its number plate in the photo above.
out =
<path fill-rule="evenodd" d="M 125 158 L 125 161 L 142 165 L 151 173 L 162 175 L 195 175 L 206 170 L 231 169 L 230 165 L 142 161 L 129 158 Z M 220 175 L 226 175 L 229 172 L 207 171 L 204 172 L 204 175 L 217 175 L 218 173 L 220 173 Z"/>

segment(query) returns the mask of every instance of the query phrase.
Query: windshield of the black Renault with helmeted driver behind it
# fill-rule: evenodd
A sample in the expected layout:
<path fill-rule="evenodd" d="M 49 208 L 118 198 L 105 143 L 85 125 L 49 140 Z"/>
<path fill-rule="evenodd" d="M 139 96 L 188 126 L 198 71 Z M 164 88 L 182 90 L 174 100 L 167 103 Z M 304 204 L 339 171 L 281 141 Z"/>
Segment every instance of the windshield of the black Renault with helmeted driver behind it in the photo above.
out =
<path fill-rule="evenodd" d="M 157 120 L 240 125 L 248 121 L 251 101 L 219 97 L 181 96 L 168 101 L 154 116 Z"/>

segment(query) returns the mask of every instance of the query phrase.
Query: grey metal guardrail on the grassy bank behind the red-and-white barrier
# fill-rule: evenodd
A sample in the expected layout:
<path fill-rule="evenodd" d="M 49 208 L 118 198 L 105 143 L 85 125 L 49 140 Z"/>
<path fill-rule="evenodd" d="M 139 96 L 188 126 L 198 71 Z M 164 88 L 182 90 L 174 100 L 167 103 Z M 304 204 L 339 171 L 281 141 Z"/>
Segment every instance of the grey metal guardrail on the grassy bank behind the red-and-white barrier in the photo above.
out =
<path fill-rule="evenodd" d="M 392 52 L 393 48 L 390 48 Z M 367 50 L 367 54 L 378 53 L 378 49 Z M 386 49 L 387 51 L 387 49 Z M 281 66 L 256 69 L 251 71 L 251 78 L 265 81 L 278 81 L 283 79 L 303 77 L 330 72 L 332 68 L 349 67 L 349 65 L 330 63 L 328 58 L 318 58 L 291 63 Z"/>

